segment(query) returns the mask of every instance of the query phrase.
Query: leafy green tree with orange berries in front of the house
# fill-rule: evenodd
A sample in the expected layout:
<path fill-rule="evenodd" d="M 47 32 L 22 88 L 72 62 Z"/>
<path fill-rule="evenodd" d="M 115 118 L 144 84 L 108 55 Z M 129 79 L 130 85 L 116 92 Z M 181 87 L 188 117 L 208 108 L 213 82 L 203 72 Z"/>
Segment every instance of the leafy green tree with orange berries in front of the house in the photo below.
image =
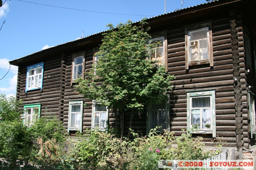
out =
<path fill-rule="evenodd" d="M 171 80 L 174 79 L 164 66 L 147 59 L 156 44 L 148 44 L 151 37 L 143 28 L 145 22 L 140 24 L 134 26 L 129 20 L 116 29 L 109 25 L 96 54 L 97 64 L 90 72 L 85 72 L 86 79 L 77 81 L 77 91 L 85 98 L 118 111 L 121 138 L 125 111 L 130 109 L 133 114 L 148 104 L 168 100 L 168 90 L 172 89 Z"/>

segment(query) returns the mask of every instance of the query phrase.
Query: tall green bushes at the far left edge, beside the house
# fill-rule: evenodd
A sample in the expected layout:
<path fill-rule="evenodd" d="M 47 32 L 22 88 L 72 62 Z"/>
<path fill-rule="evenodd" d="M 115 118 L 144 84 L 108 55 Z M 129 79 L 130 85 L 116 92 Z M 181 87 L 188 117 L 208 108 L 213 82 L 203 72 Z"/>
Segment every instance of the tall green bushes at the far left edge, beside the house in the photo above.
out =
<path fill-rule="evenodd" d="M 0 157 L 7 160 L 10 169 L 16 166 L 16 160 L 29 155 L 32 143 L 27 128 L 23 125 L 18 108 L 21 100 L 0 95 Z"/>

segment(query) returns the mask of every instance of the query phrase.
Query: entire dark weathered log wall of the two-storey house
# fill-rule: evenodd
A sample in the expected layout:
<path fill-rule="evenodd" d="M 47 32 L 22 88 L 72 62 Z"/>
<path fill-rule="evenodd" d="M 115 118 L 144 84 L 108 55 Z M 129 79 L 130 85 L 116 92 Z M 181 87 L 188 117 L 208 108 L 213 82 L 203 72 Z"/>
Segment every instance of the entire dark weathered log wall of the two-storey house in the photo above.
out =
<path fill-rule="evenodd" d="M 232 13 L 224 10 L 214 13 L 205 9 L 186 16 L 176 18 L 163 18 L 149 24 L 151 32 L 167 30 L 167 64 L 168 74 L 176 77 L 173 80 L 171 95 L 171 130 L 180 136 L 187 129 L 187 91 L 215 89 L 216 105 L 216 133 L 220 137 L 217 140 L 226 141 L 230 147 L 248 147 L 250 141 L 248 135 L 247 116 L 247 90 L 244 85 L 250 82 L 253 86 L 255 79 L 245 74 L 244 38 L 242 12 L 238 9 Z M 203 16 L 202 13 L 205 12 Z M 216 11 L 215 11 L 216 12 Z M 200 19 L 198 19 L 200 18 Z M 212 23 L 213 67 L 210 64 L 189 66 L 185 69 L 185 28 L 196 23 Z M 99 37 L 101 38 L 101 37 Z M 84 41 L 87 41 L 85 39 Z M 99 40 L 97 40 L 98 43 Z M 80 41 L 79 41 L 80 42 Z M 91 42 L 91 41 L 90 41 Z M 93 42 L 93 41 L 92 41 Z M 68 126 L 68 103 L 70 100 L 84 100 L 91 104 L 92 100 L 84 99 L 83 95 L 76 92 L 75 84 L 71 83 L 72 54 L 85 51 L 85 71 L 92 69 L 94 44 L 83 46 L 80 42 L 73 44 L 68 49 L 62 49 L 61 53 L 48 59 L 38 60 L 44 62 L 43 90 L 32 90 L 25 93 L 27 68 L 19 67 L 17 97 L 24 100 L 24 104 L 41 103 L 41 115 L 59 116 L 64 126 Z M 99 44 L 99 43 L 98 43 Z M 46 57 L 45 57 L 46 58 Z M 29 65 L 36 64 L 29 63 Z M 236 80 L 235 80 L 236 78 Z M 20 110 L 23 107 L 20 108 Z M 83 129 L 91 129 L 92 107 L 84 107 Z M 124 117 L 124 134 L 128 135 L 130 127 L 130 115 Z M 109 126 L 116 127 L 118 114 L 110 109 Z M 140 114 L 133 114 L 132 129 L 136 133 L 146 134 L 147 114 L 146 109 Z M 199 134 L 198 134 L 199 135 Z M 211 134 L 200 134 L 207 146 L 212 146 Z M 71 131 L 75 136 L 75 131 Z"/>

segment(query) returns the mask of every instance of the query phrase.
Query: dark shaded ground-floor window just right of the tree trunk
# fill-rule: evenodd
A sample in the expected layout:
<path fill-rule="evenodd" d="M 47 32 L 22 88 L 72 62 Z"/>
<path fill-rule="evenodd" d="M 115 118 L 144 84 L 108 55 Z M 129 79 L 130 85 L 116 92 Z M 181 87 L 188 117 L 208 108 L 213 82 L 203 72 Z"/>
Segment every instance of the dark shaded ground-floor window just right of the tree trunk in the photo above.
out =
<path fill-rule="evenodd" d="M 156 126 L 161 126 L 161 128 L 159 129 L 160 131 L 162 131 L 163 129 L 170 129 L 169 108 L 169 102 L 152 104 L 148 106 L 147 133 L 149 132 L 150 129 L 156 128 Z"/>

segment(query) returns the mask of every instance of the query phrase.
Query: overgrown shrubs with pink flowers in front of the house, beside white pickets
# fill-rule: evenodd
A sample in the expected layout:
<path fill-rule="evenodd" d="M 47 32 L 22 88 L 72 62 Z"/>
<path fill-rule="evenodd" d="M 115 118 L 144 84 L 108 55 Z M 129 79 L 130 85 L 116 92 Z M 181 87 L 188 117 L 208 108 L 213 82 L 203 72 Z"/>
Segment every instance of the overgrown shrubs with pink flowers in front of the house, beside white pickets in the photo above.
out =
<path fill-rule="evenodd" d="M 192 138 L 185 132 L 175 137 L 167 130 L 163 134 L 151 129 L 148 136 L 133 141 L 116 138 L 113 134 L 92 131 L 88 140 L 76 145 L 73 157 L 79 160 L 75 169 L 158 169 L 159 159 L 205 159 L 218 153 L 205 151 L 201 137 Z"/>

